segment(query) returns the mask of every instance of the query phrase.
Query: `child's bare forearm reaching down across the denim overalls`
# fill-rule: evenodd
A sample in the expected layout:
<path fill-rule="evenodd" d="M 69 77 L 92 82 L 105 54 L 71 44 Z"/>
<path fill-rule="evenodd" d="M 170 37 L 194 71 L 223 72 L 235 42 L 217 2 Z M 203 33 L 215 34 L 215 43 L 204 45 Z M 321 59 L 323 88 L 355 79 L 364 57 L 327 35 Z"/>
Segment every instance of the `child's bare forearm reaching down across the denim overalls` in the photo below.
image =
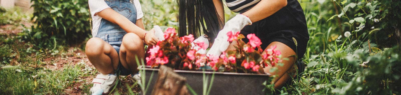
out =
<path fill-rule="evenodd" d="M 111 8 L 106 8 L 98 13 L 96 13 L 103 19 L 106 19 L 107 21 L 110 21 L 111 23 L 115 23 L 119 25 L 122 29 L 124 29 L 128 33 L 135 33 L 138 35 L 142 40 L 144 39 L 144 35 L 146 31 L 134 23 L 132 23 L 129 19 L 126 17 L 122 16 L 121 14 L 115 12 Z"/>

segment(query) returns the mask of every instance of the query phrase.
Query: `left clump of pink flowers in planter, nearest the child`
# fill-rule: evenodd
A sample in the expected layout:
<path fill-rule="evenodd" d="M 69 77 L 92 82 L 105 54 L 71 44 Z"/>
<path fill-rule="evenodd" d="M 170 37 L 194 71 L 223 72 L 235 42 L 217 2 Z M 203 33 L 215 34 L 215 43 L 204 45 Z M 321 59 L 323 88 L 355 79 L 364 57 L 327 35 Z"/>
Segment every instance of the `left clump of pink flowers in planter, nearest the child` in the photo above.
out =
<path fill-rule="evenodd" d="M 178 37 L 175 29 L 168 28 L 164 32 L 164 40 L 148 50 L 149 56 L 146 57 L 146 65 L 157 68 L 166 65 L 178 70 L 196 70 L 205 66 L 206 55 L 196 53 L 198 50 L 206 50 L 207 44 L 204 42 L 194 43 L 193 35 Z"/>

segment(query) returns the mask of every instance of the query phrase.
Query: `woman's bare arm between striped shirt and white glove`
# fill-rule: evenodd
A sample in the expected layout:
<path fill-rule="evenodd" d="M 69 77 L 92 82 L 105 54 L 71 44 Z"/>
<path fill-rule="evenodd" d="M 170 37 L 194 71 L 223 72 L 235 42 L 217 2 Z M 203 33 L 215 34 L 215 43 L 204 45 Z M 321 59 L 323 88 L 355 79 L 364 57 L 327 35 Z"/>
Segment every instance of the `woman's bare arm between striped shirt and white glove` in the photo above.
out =
<path fill-rule="evenodd" d="M 261 0 L 243 15 L 248 16 L 252 22 L 256 22 L 273 15 L 285 6 L 287 6 L 287 0 Z"/>

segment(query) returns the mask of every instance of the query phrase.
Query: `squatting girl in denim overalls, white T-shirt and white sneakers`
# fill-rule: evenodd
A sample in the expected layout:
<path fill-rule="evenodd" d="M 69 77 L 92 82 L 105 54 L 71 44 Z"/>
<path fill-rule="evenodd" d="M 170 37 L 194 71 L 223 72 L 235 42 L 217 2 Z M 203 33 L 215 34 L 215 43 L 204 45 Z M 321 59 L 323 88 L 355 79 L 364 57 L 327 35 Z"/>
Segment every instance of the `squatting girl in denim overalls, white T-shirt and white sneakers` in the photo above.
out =
<path fill-rule="evenodd" d="M 135 56 L 144 58 L 144 43 L 155 45 L 154 29 L 145 31 L 138 0 L 89 0 L 93 22 L 86 44 L 89 61 L 101 73 L 93 79 L 91 93 L 107 93 L 115 84 L 116 73 L 138 72 Z M 160 31 L 161 32 L 161 31 Z"/>

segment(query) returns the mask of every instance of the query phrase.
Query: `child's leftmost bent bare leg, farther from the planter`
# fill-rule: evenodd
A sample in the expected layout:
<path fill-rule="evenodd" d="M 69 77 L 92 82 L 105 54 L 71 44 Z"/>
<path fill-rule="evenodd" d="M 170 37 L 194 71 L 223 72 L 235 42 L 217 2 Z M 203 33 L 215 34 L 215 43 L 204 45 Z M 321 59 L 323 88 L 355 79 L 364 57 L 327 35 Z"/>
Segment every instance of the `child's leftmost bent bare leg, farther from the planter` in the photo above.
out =
<path fill-rule="evenodd" d="M 85 53 L 89 61 L 101 74 L 113 74 L 118 66 L 117 51 L 100 38 L 93 37 L 88 40 Z"/>

